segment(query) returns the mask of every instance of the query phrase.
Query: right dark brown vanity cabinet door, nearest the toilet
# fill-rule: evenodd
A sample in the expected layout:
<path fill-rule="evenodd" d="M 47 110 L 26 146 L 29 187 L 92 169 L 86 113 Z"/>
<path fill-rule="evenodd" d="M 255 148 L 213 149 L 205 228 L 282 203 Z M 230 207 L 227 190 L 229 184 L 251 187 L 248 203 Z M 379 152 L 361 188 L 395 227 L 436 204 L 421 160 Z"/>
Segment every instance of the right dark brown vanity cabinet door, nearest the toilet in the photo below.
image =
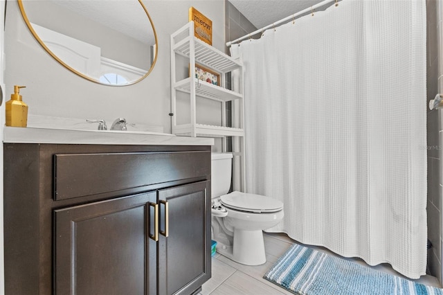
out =
<path fill-rule="evenodd" d="M 159 294 L 192 294 L 210 278 L 210 181 L 159 190 L 158 196 Z"/>

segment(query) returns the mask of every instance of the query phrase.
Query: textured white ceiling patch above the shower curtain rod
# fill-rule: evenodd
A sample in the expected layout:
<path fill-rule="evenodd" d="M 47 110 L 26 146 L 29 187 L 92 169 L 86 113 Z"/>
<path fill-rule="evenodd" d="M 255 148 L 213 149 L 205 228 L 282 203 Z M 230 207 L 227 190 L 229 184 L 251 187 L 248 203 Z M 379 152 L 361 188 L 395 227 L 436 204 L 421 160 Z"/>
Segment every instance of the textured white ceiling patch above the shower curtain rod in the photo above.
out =
<path fill-rule="evenodd" d="M 289 17 L 323 0 L 228 0 L 257 28 Z"/>

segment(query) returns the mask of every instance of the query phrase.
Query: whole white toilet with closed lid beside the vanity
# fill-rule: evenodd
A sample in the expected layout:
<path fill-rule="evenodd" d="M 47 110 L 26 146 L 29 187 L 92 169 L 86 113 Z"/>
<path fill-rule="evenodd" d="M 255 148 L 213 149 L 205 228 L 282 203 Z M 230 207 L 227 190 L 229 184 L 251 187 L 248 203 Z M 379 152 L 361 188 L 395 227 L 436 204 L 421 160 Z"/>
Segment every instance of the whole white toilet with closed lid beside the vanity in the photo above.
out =
<path fill-rule="evenodd" d="M 230 188 L 233 154 L 211 154 L 212 236 L 216 250 L 243 265 L 266 262 L 263 230 L 283 218 L 283 203 Z"/>

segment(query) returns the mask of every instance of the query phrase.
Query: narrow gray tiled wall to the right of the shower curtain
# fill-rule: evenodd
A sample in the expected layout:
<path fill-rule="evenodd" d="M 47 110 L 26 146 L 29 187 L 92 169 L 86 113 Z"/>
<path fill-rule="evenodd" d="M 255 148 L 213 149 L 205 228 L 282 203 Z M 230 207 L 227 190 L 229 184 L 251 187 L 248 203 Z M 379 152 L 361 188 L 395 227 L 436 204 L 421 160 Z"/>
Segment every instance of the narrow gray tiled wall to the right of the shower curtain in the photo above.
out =
<path fill-rule="evenodd" d="M 439 33 L 440 17 L 437 11 L 438 3 L 435 0 L 426 0 L 426 102 L 433 99 L 437 93 L 439 80 Z M 441 59 L 440 59 L 441 60 Z M 441 61 L 440 61 L 441 62 Z M 440 75 L 441 75 L 440 70 Z M 442 89 L 440 89 L 442 91 Z M 441 92 L 440 92 L 441 93 Z M 426 105 L 427 106 L 427 105 Z M 428 107 L 426 107 L 428 109 Z M 439 131 L 441 110 L 429 110 L 426 116 L 427 125 L 427 154 L 428 154 L 428 239 L 431 240 L 433 247 L 428 250 L 428 272 L 437 277 L 442 283 L 442 251 L 441 251 L 441 185 L 440 180 L 440 145 Z"/>

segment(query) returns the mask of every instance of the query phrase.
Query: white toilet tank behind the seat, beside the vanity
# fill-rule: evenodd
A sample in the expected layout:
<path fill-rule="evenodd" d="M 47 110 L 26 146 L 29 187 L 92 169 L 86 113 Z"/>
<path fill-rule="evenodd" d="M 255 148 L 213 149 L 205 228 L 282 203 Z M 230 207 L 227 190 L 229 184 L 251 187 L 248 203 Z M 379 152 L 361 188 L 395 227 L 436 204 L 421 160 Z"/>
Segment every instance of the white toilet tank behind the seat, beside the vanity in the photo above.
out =
<path fill-rule="evenodd" d="M 211 153 L 211 197 L 219 197 L 229 192 L 232 164 L 233 154 L 228 152 Z"/>

